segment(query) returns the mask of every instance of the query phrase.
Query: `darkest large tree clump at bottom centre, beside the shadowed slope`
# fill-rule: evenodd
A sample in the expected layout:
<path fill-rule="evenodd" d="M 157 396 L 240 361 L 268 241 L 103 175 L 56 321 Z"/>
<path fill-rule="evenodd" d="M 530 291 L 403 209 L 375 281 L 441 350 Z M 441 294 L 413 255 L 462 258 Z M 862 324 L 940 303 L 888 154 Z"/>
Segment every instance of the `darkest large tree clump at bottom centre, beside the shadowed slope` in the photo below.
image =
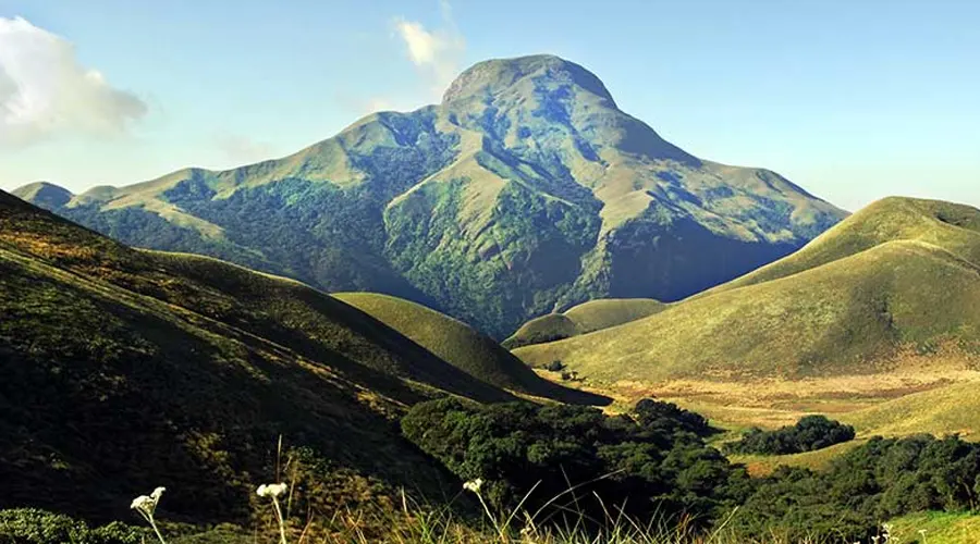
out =
<path fill-rule="evenodd" d="M 744 470 L 701 441 L 710 432 L 702 418 L 653 400 L 607 417 L 584 407 L 442 399 L 416 405 L 402 430 L 461 479 L 486 480 L 486 496 L 501 509 L 529 494 L 529 511 L 553 508 L 559 518 L 574 503 L 602 519 L 607 500 L 637 516 L 706 521 L 748 489 Z"/>

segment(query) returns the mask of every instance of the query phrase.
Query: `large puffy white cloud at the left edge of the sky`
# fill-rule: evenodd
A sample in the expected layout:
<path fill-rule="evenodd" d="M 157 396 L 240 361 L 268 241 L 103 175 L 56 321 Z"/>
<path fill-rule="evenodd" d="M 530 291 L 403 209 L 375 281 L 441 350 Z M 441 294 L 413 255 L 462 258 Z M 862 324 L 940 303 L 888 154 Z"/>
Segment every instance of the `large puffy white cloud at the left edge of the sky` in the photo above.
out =
<path fill-rule="evenodd" d="M 123 135 L 146 111 L 135 95 L 82 66 L 64 38 L 0 17 L 0 148 L 65 134 Z"/>

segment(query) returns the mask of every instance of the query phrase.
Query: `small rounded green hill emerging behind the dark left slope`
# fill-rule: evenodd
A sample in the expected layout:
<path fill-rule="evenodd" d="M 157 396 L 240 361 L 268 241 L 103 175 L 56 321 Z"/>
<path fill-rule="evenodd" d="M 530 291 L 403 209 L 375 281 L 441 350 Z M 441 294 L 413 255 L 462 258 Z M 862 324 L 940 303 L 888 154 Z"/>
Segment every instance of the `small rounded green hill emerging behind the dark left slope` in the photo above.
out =
<path fill-rule="evenodd" d="M 333 297 L 372 316 L 442 360 L 489 384 L 566 403 L 609 403 L 601 396 L 565 388 L 538 376 L 489 336 L 421 305 L 373 293 L 341 293 Z"/>

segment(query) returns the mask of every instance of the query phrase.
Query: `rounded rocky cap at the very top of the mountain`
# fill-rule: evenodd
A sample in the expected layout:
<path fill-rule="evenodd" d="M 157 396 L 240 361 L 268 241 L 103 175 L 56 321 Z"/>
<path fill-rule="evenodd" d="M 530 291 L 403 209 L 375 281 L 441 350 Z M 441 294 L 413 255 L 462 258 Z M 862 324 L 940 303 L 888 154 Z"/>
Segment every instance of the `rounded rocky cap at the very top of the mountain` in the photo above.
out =
<path fill-rule="evenodd" d="M 492 96 L 514 87 L 527 78 L 571 83 L 609 100 L 611 106 L 615 107 L 612 95 L 596 74 L 553 54 L 532 54 L 478 62 L 456 77 L 443 95 L 442 102 Z"/>

